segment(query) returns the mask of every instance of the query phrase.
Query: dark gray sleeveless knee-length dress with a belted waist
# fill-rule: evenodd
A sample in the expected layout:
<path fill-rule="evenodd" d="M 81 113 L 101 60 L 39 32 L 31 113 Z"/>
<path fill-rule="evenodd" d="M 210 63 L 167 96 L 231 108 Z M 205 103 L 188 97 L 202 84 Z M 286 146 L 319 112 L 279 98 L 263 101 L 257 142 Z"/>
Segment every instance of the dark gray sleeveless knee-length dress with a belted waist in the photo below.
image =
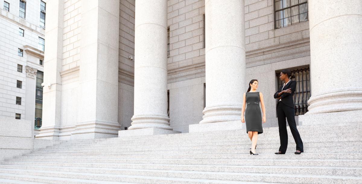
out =
<path fill-rule="evenodd" d="M 258 134 L 263 133 L 261 125 L 261 110 L 260 110 L 260 94 L 259 92 L 245 93 L 246 105 L 245 123 L 248 131 L 257 131 Z"/>

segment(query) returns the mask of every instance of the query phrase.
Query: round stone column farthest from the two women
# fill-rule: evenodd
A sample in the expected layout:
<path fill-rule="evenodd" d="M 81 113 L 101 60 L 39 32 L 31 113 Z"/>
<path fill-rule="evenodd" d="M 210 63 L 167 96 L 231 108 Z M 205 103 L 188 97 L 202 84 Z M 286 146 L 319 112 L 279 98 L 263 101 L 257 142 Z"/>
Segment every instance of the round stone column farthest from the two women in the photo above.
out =
<path fill-rule="evenodd" d="M 167 116 L 167 0 L 136 0 L 132 129 L 172 130 Z"/>

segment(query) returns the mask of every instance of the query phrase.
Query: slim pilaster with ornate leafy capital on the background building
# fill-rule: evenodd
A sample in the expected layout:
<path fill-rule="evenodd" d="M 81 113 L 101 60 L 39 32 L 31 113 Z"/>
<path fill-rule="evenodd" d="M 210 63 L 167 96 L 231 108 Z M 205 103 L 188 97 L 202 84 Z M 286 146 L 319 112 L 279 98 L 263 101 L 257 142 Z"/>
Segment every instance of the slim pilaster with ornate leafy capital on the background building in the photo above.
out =
<path fill-rule="evenodd" d="M 31 122 L 31 135 L 34 138 L 34 117 L 35 117 L 35 91 L 38 70 L 25 66 L 26 71 L 26 93 L 25 93 L 25 120 Z"/>

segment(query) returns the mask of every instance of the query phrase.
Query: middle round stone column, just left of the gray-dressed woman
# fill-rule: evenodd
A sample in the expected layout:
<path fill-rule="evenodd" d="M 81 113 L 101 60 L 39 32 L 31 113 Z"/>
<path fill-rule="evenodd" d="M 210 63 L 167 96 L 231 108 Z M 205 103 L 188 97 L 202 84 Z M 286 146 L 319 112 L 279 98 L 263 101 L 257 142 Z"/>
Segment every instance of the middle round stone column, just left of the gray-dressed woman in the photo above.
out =
<path fill-rule="evenodd" d="M 240 120 L 245 92 L 244 0 L 206 0 L 203 123 Z"/>

